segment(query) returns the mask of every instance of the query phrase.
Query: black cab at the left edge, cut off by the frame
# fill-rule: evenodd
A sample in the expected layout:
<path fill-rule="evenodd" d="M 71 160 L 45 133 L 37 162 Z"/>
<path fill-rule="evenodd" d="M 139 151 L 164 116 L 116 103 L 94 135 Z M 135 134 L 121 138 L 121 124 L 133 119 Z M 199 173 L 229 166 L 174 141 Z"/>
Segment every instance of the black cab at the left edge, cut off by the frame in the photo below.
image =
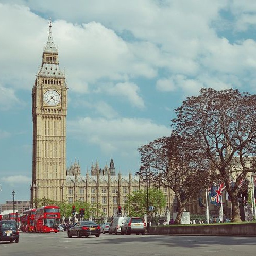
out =
<path fill-rule="evenodd" d="M 0 221 L 0 241 L 19 242 L 19 228 L 15 220 Z"/>

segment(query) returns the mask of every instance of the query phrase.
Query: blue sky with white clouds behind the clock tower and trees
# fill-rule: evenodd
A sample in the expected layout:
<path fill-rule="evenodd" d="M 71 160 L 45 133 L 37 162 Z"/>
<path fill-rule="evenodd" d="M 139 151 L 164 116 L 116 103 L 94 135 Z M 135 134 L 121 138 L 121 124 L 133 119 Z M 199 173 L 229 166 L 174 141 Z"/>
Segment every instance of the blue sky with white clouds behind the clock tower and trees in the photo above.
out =
<path fill-rule="evenodd" d="M 201 88 L 255 94 L 256 2 L 0 0 L 0 203 L 30 199 L 31 91 L 48 39 L 68 91 L 67 167 L 114 159 L 135 173 L 139 147 L 170 134 Z"/>

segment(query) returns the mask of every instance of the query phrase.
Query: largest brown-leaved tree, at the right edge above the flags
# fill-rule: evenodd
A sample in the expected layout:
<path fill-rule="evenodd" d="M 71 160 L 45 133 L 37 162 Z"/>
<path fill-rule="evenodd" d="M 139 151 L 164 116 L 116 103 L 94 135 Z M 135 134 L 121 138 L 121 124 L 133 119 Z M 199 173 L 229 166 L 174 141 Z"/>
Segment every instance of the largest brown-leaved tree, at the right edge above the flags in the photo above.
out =
<path fill-rule="evenodd" d="M 247 174 L 255 172 L 256 95 L 233 89 L 201 89 L 199 96 L 188 97 L 175 111 L 172 127 L 194 140 L 197 152 L 206 154 L 215 180 L 225 183 L 230 196 L 231 221 L 241 221 L 237 192 Z"/>

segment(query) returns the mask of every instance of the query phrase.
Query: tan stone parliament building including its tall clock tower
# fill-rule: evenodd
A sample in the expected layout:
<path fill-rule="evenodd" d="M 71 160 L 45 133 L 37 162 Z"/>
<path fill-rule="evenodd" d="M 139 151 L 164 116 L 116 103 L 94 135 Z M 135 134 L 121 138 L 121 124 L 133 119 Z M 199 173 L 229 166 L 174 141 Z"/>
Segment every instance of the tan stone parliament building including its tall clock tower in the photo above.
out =
<path fill-rule="evenodd" d="M 81 175 L 79 162 L 66 168 L 67 83 L 59 68 L 58 50 L 52 37 L 52 22 L 42 54 L 42 64 L 32 88 L 33 153 L 31 207 L 37 199 L 86 201 L 99 203 L 106 216 L 123 206 L 129 193 L 145 189 L 139 177 L 115 171 L 114 161 L 100 168 L 98 162 L 91 174 Z M 166 206 L 172 209 L 173 193 L 163 189 Z"/>

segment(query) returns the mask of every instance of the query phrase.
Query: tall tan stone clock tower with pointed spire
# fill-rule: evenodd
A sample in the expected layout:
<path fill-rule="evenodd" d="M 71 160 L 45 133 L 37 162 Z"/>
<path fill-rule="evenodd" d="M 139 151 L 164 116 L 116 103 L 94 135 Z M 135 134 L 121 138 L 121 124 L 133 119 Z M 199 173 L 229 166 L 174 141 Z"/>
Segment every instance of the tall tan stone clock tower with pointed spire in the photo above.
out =
<path fill-rule="evenodd" d="M 65 74 L 59 69 L 51 22 L 42 57 L 42 65 L 32 89 L 33 207 L 37 207 L 38 199 L 65 199 L 67 84 Z"/>

